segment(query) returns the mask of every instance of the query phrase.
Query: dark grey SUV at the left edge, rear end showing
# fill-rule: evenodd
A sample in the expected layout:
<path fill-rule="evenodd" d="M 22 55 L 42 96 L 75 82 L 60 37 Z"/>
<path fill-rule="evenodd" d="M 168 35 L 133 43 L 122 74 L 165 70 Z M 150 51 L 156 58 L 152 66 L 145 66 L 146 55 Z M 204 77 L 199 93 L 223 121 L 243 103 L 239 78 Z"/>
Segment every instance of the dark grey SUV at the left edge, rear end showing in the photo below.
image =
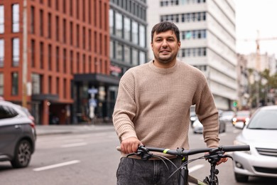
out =
<path fill-rule="evenodd" d="M 0 100 L 0 162 L 26 167 L 35 152 L 36 125 L 25 107 Z"/>

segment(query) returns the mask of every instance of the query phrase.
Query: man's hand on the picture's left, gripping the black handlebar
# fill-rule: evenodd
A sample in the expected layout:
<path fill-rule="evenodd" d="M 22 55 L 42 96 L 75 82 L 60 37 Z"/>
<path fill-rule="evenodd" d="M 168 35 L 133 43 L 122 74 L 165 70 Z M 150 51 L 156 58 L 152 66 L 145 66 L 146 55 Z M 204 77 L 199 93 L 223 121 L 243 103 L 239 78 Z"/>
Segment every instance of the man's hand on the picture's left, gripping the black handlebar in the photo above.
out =
<path fill-rule="evenodd" d="M 136 137 L 129 137 L 121 142 L 120 149 L 124 154 L 130 154 L 136 152 L 138 147 L 143 145 L 141 141 Z"/>

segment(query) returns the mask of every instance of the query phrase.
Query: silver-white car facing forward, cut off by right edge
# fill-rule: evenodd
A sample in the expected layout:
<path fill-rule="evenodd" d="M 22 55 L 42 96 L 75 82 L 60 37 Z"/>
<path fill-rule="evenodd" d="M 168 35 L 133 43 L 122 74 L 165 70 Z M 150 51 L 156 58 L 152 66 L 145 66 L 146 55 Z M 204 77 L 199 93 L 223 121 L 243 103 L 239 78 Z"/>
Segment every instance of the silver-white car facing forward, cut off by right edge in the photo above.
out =
<path fill-rule="evenodd" d="M 234 144 L 249 144 L 250 151 L 233 152 L 234 176 L 238 182 L 246 182 L 249 176 L 277 178 L 277 105 L 261 107 L 243 128 Z M 277 179 L 276 179 L 277 181 Z"/>

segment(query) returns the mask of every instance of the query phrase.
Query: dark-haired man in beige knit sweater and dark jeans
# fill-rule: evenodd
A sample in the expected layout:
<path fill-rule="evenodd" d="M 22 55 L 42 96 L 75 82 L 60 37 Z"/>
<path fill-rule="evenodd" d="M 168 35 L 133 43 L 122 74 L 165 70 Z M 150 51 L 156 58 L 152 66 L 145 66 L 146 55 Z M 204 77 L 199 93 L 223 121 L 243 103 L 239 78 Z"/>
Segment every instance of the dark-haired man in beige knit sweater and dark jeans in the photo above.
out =
<path fill-rule="evenodd" d="M 219 146 L 218 111 L 207 80 L 200 70 L 177 60 L 180 45 L 180 31 L 174 23 L 157 23 L 151 31 L 153 60 L 121 77 L 113 113 L 121 142 L 118 185 L 165 184 L 170 172 L 161 160 L 142 161 L 126 155 L 136 152 L 139 145 L 189 149 L 191 105 L 203 125 L 207 147 Z M 171 160 L 180 163 L 180 159 Z M 177 184 L 177 177 L 166 184 Z"/>

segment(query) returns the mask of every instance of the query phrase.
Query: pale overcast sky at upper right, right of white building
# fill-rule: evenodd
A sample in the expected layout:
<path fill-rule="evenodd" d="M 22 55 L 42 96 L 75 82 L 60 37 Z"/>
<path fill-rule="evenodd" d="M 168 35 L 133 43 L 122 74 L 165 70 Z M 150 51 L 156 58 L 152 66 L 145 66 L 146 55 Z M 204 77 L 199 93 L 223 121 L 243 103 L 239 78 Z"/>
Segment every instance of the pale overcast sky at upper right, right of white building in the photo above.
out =
<path fill-rule="evenodd" d="M 257 30 L 259 38 L 276 38 L 260 41 L 261 54 L 275 54 L 277 58 L 277 1 L 234 0 L 236 6 L 237 53 L 255 53 Z M 244 41 L 245 39 L 249 41 Z"/>

